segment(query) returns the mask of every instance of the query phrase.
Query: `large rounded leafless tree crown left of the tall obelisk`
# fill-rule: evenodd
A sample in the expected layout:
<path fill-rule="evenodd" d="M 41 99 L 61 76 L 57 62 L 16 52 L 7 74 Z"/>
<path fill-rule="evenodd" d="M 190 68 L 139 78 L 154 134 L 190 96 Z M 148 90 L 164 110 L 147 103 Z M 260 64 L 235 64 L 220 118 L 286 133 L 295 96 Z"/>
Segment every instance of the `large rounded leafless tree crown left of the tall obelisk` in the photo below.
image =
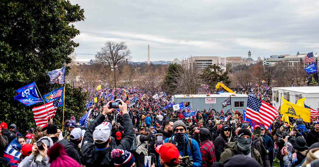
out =
<path fill-rule="evenodd" d="M 104 47 L 95 55 L 95 61 L 105 66 L 116 66 L 121 62 L 130 61 L 130 54 L 131 51 L 125 42 L 107 41 Z"/>

